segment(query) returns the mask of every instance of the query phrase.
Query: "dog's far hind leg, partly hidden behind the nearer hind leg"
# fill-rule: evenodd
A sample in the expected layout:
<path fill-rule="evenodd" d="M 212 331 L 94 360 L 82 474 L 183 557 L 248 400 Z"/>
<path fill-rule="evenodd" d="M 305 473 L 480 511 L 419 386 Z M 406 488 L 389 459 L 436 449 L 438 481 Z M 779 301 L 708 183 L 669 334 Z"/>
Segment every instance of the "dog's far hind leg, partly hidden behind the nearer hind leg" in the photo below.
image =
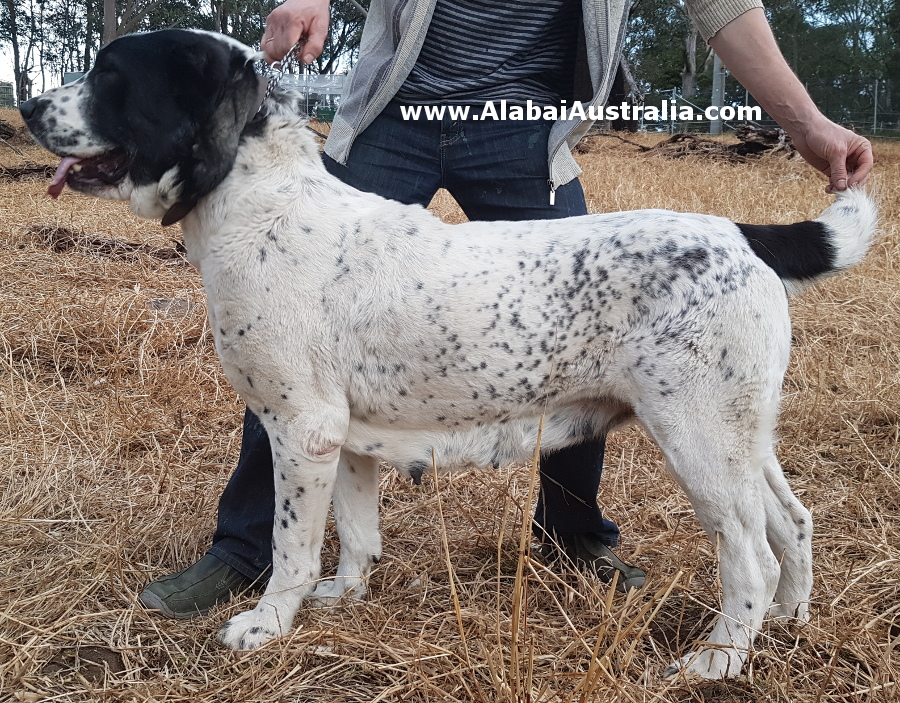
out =
<path fill-rule="evenodd" d="M 770 450 L 763 464 L 766 485 L 766 536 L 781 562 L 781 578 L 775 603 L 769 610 L 775 617 L 809 620 L 812 591 L 812 515 L 794 495 L 781 465 Z"/>

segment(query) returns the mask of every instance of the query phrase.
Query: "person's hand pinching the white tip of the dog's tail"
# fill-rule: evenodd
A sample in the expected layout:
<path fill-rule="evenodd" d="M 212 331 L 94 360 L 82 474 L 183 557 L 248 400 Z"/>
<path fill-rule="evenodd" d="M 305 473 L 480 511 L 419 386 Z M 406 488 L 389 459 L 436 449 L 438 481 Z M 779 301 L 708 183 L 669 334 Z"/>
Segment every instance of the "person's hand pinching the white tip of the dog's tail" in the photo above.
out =
<path fill-rule="evenodd" d="M 828 176 L 825 192 L 834 193 L 865 182 L 872 170 L 872 145 L 824 116 L 791 134 L 806 161 Z"/>

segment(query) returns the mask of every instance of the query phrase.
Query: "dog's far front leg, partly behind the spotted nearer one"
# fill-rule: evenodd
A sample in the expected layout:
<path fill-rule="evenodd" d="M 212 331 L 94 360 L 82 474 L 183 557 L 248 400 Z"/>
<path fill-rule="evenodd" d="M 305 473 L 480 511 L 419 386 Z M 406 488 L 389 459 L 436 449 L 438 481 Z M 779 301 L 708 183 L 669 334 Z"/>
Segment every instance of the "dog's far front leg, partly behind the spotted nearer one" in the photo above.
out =
<path fill-rule="evenodd" d="M 328 605 L 348 594 L 362 599 L 366 577 L 381 559 L 378 530 L 378 459 L 341 452 L 334 486 L 334 519 L 341 540 L 337 576 L 316 586 L 313 598 Z"/>

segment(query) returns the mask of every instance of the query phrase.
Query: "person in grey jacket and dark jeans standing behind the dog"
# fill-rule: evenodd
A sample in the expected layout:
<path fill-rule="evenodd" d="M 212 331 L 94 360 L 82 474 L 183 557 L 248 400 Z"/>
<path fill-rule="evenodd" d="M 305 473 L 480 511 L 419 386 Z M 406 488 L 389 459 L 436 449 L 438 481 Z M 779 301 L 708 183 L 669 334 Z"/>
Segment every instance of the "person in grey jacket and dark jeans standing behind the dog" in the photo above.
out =
<path fill-rule="evenodd" d="M 829 176 L 827 190 L 861 183 L 868 141 L 827 120 L 790 71 L 758 0 L 686 0 L 698 29 L 732 74 Z M 372 0 L 358 64 L 325 145 L 326 168 L 364 191 L 427 206 L 441 187 L 471 220 L 538 220 L 587 214 L 570 148 L 589 122 L 405 120 L 405 105 L 487 101 L 602 105 L 618 65 L 627 0 Z M 305 38 L 301 59 L 321 53 L 327 0 L 287 0 L 269 15 L 269 61 Z M 535 534 L 560 552 L 641 586 L 644 572 L 610 549 L 619 539 L 597 505 L 604 441 L 541 456 Z M 149 584 L 141 602 L 170 617 L 205 613 L 260 582 L 271 563 L 275 511 L 272 455 L 248 410 L 237 468 L 219 502 L 213 545 L 184 571 Z"/>

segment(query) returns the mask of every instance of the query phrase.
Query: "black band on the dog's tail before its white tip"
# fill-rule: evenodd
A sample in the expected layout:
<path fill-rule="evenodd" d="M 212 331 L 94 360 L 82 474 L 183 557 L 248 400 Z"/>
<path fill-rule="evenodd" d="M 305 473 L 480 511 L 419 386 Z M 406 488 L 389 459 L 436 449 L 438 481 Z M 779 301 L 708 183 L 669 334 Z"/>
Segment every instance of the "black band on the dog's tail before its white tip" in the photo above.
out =
<path fill-rule="evenodd" d="M 821 222 L 735 224 L 753 253 L 781 278 L 802 281 L 834 271 L 834 246 L 828 228 Z"/>

